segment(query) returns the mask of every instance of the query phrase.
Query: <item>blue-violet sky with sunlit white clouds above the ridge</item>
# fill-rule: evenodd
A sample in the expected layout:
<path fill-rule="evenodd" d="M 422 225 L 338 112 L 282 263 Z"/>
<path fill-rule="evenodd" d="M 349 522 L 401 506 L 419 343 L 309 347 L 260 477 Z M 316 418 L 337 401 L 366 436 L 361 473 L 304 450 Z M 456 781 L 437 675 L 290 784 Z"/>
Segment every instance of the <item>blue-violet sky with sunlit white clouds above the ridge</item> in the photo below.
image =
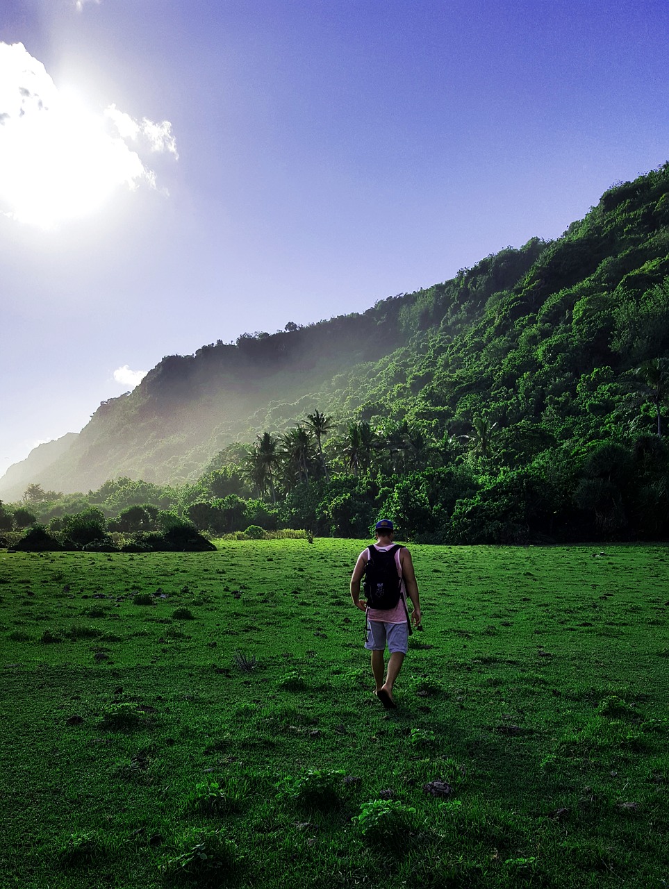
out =
<path fill-rule="evenodd" d="M 669 158 L 668 26 L 655 0 L 5 0 L 0 472 L 162 356 L 559 236 Z"/>

